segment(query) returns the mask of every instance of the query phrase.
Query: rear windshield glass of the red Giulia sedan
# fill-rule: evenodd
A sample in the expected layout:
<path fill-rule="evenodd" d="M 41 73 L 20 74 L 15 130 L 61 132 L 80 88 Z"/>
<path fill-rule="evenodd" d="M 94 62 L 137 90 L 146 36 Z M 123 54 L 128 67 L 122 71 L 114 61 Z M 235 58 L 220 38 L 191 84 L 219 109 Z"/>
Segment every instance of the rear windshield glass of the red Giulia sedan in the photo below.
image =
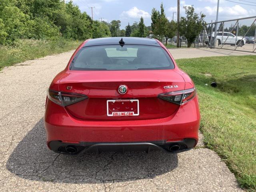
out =
<path fill-rule="evenodd" d="M 71 70 L 156 70 L 173 69 L 166 51 L 157 46 L 104 45 L 82 48 Z"/>

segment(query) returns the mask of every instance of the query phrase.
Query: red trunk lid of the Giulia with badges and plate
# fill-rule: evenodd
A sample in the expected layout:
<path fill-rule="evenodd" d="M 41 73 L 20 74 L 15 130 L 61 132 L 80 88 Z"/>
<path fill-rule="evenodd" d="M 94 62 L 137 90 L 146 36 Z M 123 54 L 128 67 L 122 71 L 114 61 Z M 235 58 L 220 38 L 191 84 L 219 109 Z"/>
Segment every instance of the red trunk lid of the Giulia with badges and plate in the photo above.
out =
<path fill-rule="evenodd" d="M 118 92 L 120 85 L 127 87 L 125 94 Z M 62 92 L 88 96 L 86 100 L 65 107 L 72 116 L 86 120 L 142 120 L 170 116 L 179 105 L 157 96 L 184 90 L 184 87 L 184 79 L 175 70 L 72 71 L 59 82 Z"/>

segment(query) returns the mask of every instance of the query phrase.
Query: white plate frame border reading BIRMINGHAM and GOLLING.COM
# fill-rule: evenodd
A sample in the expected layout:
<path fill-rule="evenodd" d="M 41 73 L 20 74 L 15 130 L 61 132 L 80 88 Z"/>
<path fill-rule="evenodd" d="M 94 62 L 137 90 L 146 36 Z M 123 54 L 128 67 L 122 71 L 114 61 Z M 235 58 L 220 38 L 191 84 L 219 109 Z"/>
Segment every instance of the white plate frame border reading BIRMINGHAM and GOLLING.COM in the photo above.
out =
<path fill-rule="evenodd" d="M 112 112 L 110 113 L 109 110 L 109 102 L 137 102 L 137 113 L 134 111 L 124 111 L 124 112 Z M 140 114 L 139 112 L 139 100 L 138 99 L 112 99 L 112 100 L 107 100 L 107 116 L 138 116 Z"/>

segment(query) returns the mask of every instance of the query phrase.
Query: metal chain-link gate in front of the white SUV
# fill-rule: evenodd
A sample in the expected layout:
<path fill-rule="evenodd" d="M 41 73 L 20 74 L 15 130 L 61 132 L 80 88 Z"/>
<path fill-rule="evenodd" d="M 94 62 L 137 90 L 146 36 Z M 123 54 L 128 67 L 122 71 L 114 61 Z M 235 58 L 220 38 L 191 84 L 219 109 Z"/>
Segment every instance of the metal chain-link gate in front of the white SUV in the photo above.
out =
<path fill-rule="evenodd" d="M 196 47 L 256 52 L 256 16 L 208 23 L 194 44 Z"/>

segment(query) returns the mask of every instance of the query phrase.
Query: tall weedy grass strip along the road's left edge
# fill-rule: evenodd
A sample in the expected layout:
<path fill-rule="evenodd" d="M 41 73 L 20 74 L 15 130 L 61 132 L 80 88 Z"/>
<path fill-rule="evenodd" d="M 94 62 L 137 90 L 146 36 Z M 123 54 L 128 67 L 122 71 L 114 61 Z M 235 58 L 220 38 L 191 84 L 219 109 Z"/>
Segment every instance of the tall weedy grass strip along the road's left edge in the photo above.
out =
<path fill-rule="evenodd" d="M 0 70 L 5 66 L 76 49 L 80 41 L 66 40 L 18 40 L 14 46 L 0 46 Z"/>

